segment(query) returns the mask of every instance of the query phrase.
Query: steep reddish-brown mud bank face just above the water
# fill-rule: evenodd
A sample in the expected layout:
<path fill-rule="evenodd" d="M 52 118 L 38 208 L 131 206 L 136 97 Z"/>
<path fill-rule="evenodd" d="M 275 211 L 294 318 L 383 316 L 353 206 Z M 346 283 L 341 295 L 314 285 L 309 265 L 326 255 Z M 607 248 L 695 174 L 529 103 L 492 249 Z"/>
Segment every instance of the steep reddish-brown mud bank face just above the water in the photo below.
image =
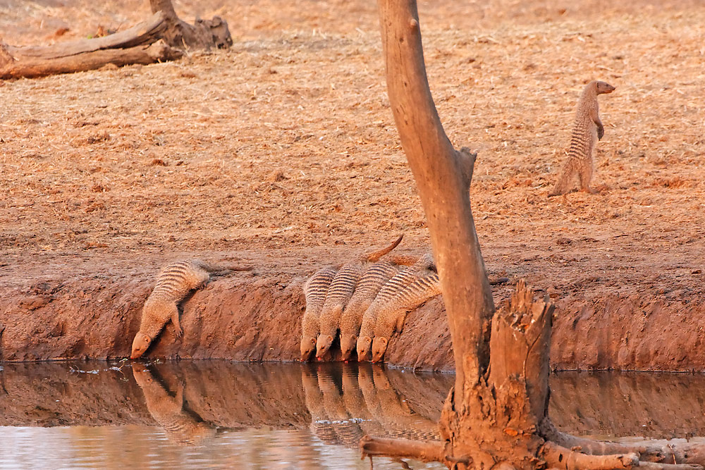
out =
<path fill-rule="evenodd" d="M 151 271 L 150 271 L 151 273 Z M 0 299 L 0 359 L 128 357 L 152 274 L 73 276 L 9 288 Z M 239 273 L 216 278 L 184 304 L 183 338 L 171 323 L 147 352 L 161 359 L 295 361 L 304 309 L 302 277 Z M 511 287 L 499 287 L 496 301 Z M 555 295 L 554 292 L 551 292 Z M 556 298 L 553 369 L 703 371 L 705 305 L 697 295 L 651 292 Z M 441 298 L 407 316 L 386 360 L 449 371 L 451 342 Z"/>

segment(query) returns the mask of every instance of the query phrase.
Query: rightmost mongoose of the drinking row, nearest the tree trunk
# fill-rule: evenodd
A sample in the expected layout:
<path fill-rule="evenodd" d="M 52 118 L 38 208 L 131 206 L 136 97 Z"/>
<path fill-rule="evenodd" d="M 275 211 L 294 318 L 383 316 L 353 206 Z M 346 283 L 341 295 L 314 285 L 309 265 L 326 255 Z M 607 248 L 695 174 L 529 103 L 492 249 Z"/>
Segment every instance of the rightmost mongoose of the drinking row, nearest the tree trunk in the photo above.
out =
<path fill-rule="evenodd" d="M 376 299 L 370 309 L 376 310 L 374 339 L 372 340 L 372 362 L 381 361 L 387 350 L 391 335 L 401 333 L 406 314 L 441 293 L 439 273 L 429 270 L 390 299 Z"/>

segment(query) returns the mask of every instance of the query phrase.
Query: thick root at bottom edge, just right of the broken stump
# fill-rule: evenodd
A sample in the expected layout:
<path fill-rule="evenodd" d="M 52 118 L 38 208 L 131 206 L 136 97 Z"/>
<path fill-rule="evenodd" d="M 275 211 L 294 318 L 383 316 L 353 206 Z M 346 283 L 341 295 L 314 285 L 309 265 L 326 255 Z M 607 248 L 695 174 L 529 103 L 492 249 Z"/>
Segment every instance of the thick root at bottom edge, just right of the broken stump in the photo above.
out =
<path fill-rule="evenodd" d="M 549 467 L 563 470 L 632 469 L 639 466 L 639 454 L 588 455 L 546 442 L 539 451 Z"/>

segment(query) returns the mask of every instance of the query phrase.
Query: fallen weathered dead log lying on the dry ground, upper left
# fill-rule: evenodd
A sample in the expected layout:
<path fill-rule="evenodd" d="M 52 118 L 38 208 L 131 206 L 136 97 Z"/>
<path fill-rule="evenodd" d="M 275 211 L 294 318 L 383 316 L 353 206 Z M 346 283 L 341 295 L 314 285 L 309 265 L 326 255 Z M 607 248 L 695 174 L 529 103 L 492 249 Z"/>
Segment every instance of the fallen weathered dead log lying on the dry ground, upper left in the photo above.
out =
<path fill-rule="evenodd" d="M 82 72 L 108 64 L 173 61 L 183 56 L 184 49 L 220 49 L 233 44 L 228 23 L 218 16 L 189 25 L 176 16 L 171 0 L 151 0 L 151 4 L 151 18 L 114 35 L 43 47 L 0 42 L 0 79 Z"/>

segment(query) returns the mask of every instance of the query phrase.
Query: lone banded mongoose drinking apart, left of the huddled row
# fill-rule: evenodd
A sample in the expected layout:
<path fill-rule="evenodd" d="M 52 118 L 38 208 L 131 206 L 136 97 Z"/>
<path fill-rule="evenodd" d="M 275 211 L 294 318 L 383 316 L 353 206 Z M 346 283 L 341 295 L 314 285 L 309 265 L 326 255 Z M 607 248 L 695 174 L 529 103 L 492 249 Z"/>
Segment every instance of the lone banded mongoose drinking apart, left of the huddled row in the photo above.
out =
<path fill-rule="evenodd" d="M 130 359 L 137 359 L 145 354 L 149 345 L 169 320 L 176 330 L 176 337 L 181 337 L 183 332 L 178 321 L 177 304 L 191 290 L 200 289 L 206 285 L 211 274 L 221 276 L 233 271 L 251 269 L 252 266 L 216 266 L 200 259 L 176 261 L 164 266 L 157 278 L 157 285 L 154 286 L 154 290 L 145 301 L 145 306 L 142 307 L 140 330 L 133 340 Z"/>

